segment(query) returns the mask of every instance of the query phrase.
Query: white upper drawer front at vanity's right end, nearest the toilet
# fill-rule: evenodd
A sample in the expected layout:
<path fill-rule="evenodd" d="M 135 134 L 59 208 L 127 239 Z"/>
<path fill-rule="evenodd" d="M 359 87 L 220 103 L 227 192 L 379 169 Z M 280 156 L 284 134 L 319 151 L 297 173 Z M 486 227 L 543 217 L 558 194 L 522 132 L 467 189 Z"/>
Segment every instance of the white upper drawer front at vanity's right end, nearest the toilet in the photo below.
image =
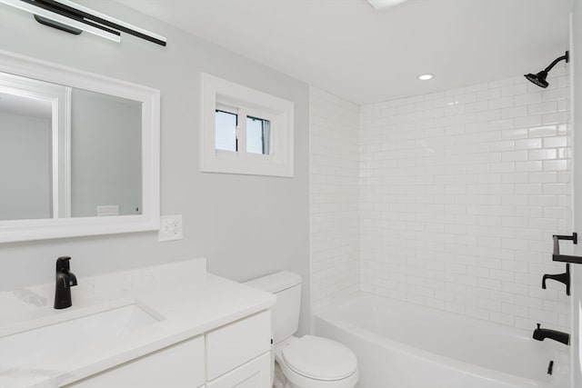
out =
<path fill-rule="evenodd" d="M 214 380 L 270 350 L 268 311 L 206 333 L 206 380 Z"/>

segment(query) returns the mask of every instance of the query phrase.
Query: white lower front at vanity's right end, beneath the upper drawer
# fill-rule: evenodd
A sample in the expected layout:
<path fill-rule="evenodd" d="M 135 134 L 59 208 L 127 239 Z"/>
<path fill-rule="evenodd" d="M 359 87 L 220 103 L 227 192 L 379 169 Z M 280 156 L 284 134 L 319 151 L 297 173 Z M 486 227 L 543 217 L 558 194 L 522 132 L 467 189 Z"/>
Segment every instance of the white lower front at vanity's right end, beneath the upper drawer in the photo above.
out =
<path fill-rule="evenodd" d="M 206 388 L 271 388 L 271 353 L 207 382 Z"/>

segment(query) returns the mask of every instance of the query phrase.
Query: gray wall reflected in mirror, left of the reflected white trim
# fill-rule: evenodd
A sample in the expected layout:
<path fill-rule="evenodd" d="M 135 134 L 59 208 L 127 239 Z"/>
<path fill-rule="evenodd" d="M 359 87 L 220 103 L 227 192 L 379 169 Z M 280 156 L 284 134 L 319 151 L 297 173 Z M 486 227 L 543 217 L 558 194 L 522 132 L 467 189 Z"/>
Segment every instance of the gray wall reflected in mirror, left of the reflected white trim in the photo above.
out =
<path fill-rule="evenodd" d="M 51 120 L 0 112 L 0 220 L 50 218 Z"/>

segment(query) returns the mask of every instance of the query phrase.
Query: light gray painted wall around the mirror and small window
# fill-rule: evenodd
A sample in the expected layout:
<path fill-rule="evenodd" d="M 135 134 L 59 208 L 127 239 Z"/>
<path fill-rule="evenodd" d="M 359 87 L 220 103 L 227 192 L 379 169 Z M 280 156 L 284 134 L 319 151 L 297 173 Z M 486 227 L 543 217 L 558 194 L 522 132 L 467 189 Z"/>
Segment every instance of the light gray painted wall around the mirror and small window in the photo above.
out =
<path fill-rule="evenodd" d="M 105 1 L 84 5 L 166 35 L 166 48 L 123 35 L 121 44 L 68 35 L 0 5 L 0 49 L 156 87 L 162 93 L 162 214 L 183 214 L 184 240 L 117 234 L 0 245 L 0 289 L 51 282 L 68 254 L 77 276 L 206 256 L 213 274 L 244 281 L 280 269 L 303 276 L 308 330 L 308 85 Z M 295 177 L 199 172 L 200 72 L 295 102 Z"/>

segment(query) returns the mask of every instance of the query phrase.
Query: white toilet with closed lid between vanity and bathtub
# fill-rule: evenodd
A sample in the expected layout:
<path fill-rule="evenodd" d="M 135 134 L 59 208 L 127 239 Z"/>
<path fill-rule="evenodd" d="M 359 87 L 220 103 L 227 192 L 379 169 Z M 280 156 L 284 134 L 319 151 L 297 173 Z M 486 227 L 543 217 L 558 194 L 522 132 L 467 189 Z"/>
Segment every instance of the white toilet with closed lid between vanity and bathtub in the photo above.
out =
<path fill-rule="evenodd" d="M 356 386 L 356 354 L 346 346 L 313 335 L 293 336 L 299 324 L 301 276 L 283 271 L 246 284 L 276 294 L 271 308 L 275 388 Z"/>

